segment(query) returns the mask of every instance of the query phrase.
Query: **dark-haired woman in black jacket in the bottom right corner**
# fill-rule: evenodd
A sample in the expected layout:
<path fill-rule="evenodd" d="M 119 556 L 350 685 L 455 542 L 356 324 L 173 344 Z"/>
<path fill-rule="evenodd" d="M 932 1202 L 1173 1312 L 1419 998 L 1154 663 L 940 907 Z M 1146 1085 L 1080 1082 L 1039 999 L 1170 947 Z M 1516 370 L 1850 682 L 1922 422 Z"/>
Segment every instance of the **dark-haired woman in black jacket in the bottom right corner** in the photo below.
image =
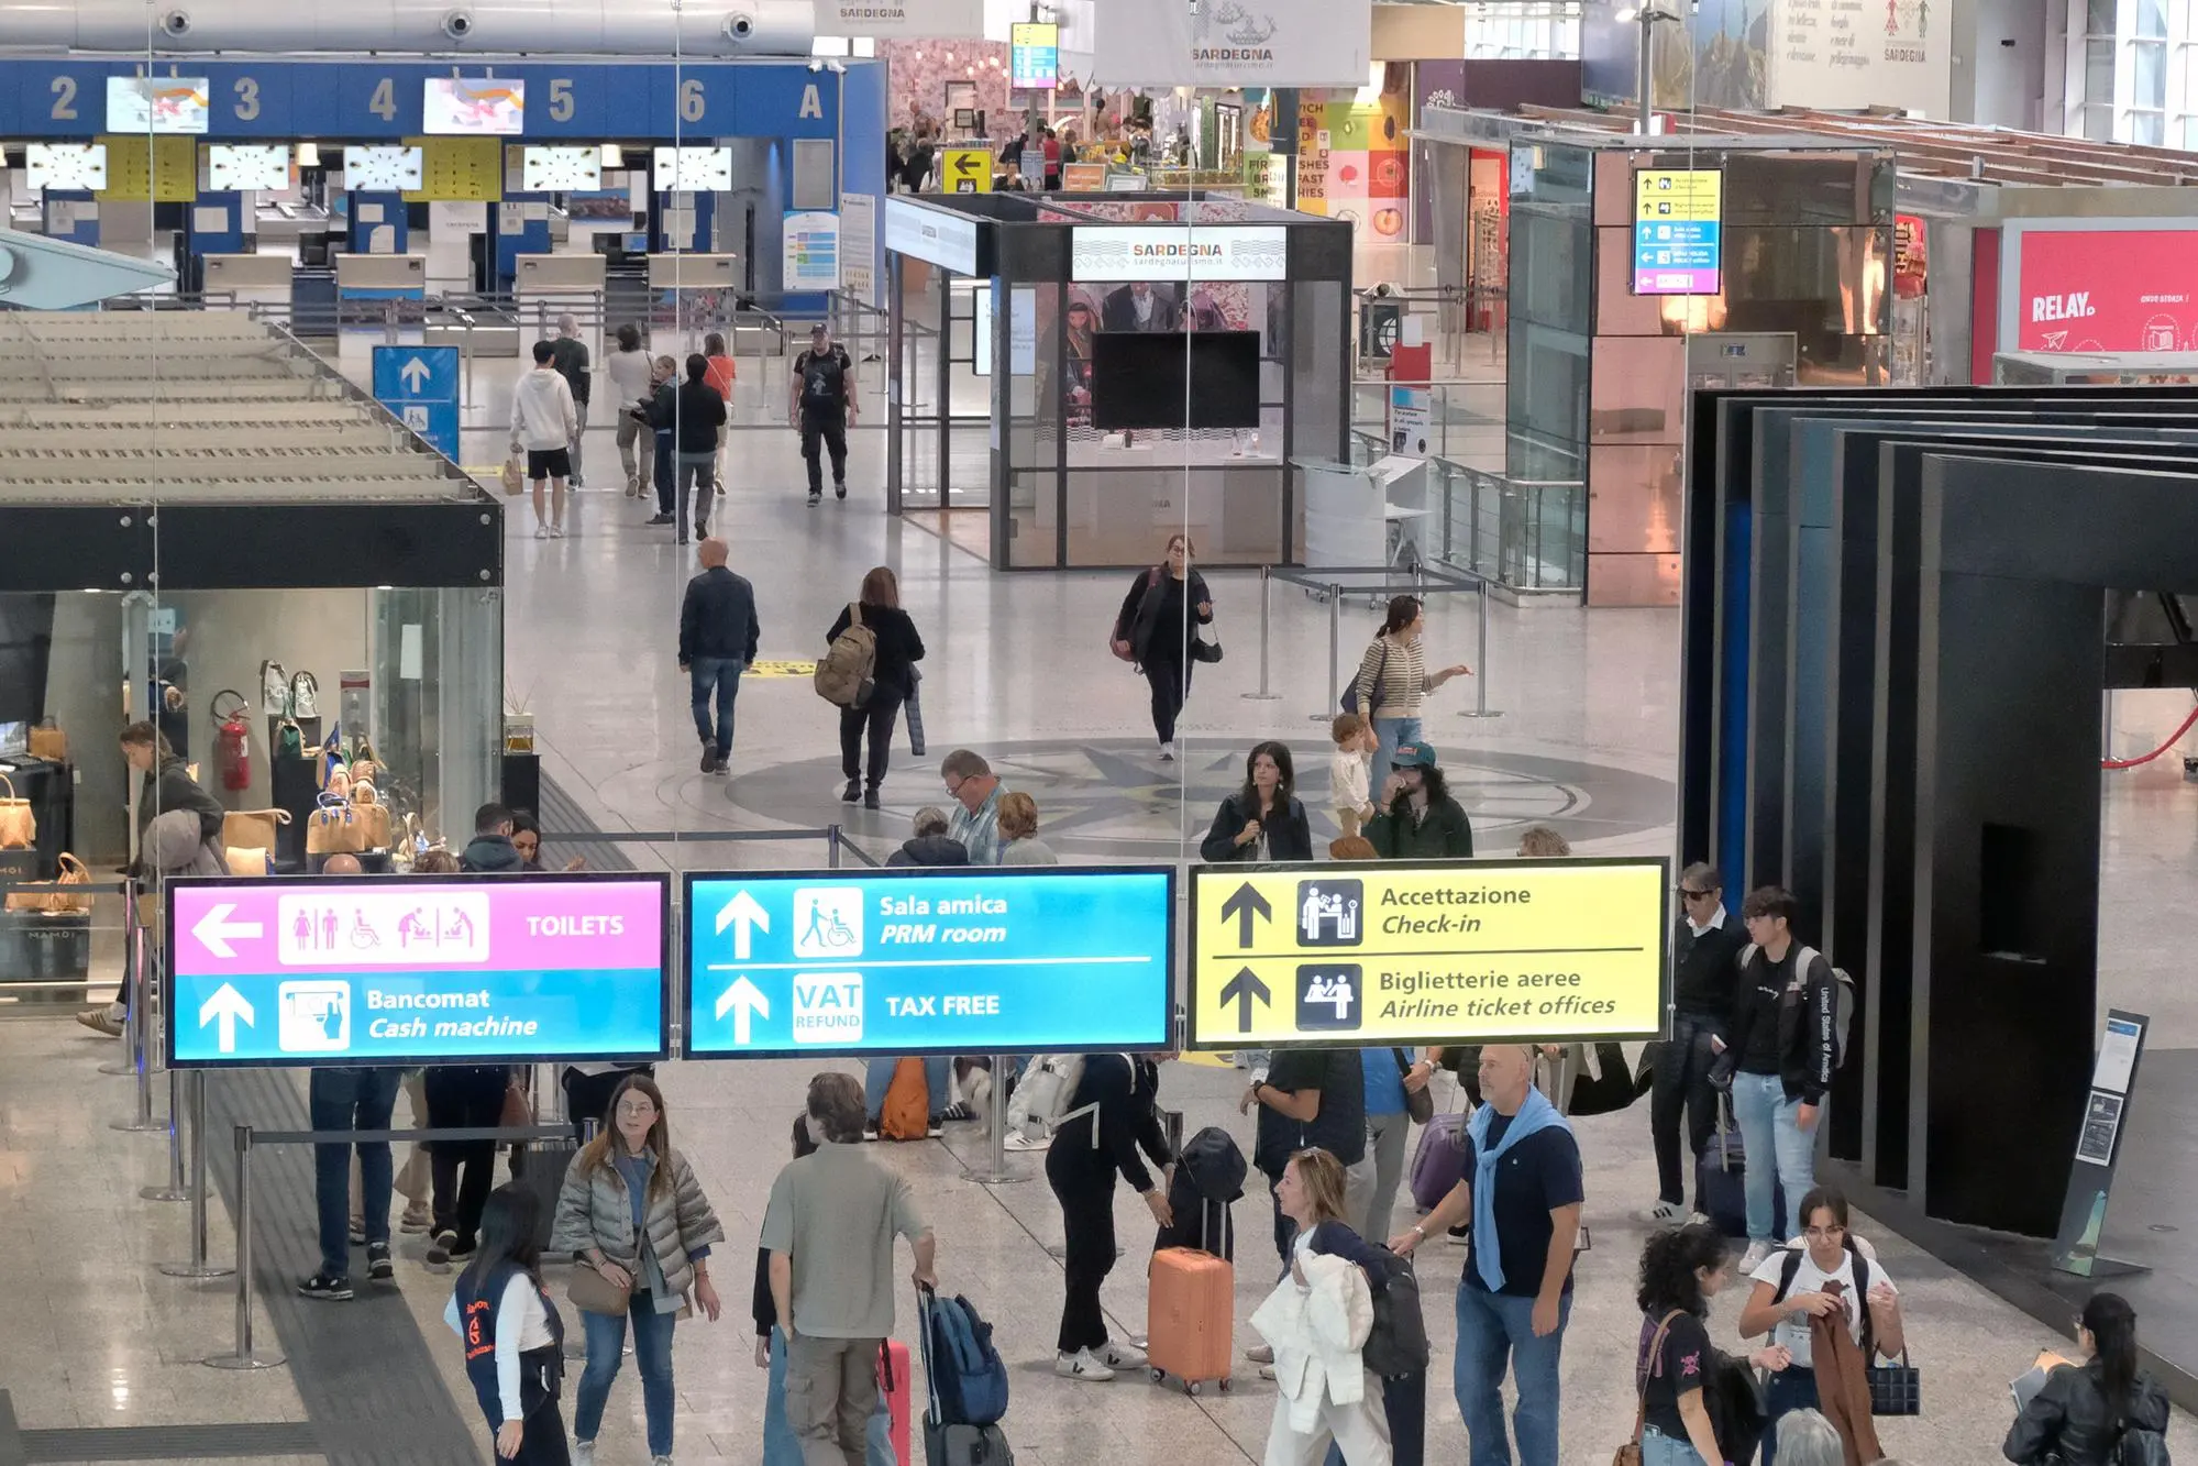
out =
<path fill-rule="evenodd" d="M 2075 1321 L 2075 1343 L 2084 1363 L 2046 1376 L 2016 1415 L 2000 1455 L 2018 1466 L 2165 1464 L 2167 1396 L 2136 1367 L 2136 1310 L 2119 1292 L 2090 1295 Z"/>

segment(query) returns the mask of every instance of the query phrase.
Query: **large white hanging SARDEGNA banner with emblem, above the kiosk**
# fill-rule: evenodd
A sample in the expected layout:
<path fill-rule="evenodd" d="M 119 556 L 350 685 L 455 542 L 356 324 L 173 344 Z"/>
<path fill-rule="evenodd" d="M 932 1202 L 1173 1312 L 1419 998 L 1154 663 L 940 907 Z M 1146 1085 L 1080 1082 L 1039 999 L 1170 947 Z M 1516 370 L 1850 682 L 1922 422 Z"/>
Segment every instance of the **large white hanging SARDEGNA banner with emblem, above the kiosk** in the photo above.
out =
<path fill-rule="evenodd" d="M 1365 86 L 1372 0 L 1101 0 L 1103 86 Z"/>

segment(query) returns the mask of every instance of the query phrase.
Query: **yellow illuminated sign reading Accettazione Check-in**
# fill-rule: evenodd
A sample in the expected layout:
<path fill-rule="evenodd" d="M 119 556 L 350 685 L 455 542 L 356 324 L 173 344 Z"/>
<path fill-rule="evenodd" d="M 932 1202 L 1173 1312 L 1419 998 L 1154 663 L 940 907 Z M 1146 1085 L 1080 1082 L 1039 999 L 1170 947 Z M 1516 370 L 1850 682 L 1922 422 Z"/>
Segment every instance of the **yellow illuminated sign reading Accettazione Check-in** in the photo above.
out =
<path fill-rule="evenodd" d="M 1189 1048 L 1655 1037 L 1664 859 L 1191 868 Z"/>

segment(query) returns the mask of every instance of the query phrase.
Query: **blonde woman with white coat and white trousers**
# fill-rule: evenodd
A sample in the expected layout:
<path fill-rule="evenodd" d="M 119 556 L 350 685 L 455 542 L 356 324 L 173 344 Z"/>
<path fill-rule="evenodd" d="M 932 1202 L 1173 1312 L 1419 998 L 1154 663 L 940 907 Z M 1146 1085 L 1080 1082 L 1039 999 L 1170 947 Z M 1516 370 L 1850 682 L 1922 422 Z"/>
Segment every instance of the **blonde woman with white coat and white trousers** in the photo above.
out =
<path fill-rule="evenodd" d="M 1341 1160 L 1301 1150 L 1275 1187 L 1297 1242 L 1288 1277 L 1251 1319 L 1275 1350 L 1279 1389 L 1266 1466 L 1321 1466 L 1330 1444 L 1345 1466 L 1389 1466 L 1380 1376 L 1361 1358 L 1389 1264 L 1343 1220 L 1343 1185 Z"/>

